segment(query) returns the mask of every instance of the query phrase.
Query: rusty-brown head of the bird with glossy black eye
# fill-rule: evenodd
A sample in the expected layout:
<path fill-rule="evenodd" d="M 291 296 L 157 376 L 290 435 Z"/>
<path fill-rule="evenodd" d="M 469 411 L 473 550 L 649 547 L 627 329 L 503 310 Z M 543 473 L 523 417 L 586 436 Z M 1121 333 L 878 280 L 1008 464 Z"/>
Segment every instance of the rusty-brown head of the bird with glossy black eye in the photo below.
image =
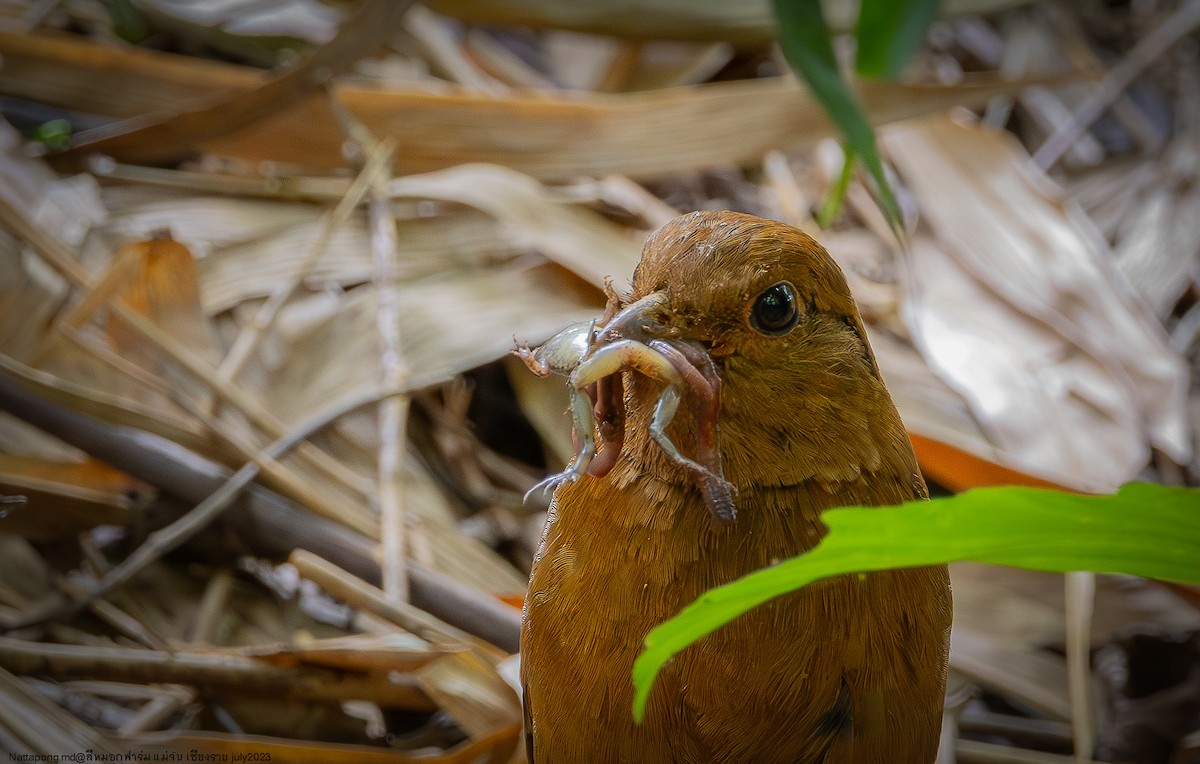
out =
<path fill-rule="evenodd" d="M 646 242 L 604 333 L 707 349 L 721 378 L 720 451 L 739 489 L 914 469 L 846 278 L 797 228 L 737 212 L 676 218 Z M 644 443 L 656 395 L 646 379 L 630 384 L 631 446 Z M 673 469 L 654 449 L 637 451 L 652 469 Z"/>

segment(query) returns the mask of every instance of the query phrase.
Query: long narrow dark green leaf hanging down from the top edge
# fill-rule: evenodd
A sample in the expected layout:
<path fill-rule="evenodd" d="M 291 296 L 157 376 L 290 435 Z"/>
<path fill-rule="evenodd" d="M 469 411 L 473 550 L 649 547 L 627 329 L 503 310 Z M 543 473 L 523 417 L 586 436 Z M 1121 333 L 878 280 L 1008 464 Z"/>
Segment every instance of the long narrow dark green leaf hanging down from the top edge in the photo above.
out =
<path fill-rule="evenodd" d="M 821 4 L 817 0 L 774 0 L 774 5 L 784 58 L 824 107 L 846 145 L 863 160 L 875 179 L 880 205 L 888 222 L 899 230 L 900 206 L 883 174 L 883 162 L 866 114 L 838 68 L 838 56 L 833 52 Z"/>

